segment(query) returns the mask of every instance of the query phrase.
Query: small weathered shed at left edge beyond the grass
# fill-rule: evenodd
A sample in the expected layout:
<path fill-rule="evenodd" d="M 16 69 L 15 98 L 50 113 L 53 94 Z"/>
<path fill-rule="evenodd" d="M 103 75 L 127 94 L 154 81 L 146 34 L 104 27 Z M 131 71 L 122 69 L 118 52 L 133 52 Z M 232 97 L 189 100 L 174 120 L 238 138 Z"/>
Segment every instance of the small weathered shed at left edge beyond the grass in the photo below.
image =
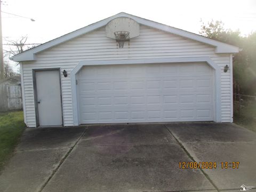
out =
<path fill-rule="evenodd" d="M 13 76 L 0 81 L 0 111 L 22 109 L 21 77 Z"/>

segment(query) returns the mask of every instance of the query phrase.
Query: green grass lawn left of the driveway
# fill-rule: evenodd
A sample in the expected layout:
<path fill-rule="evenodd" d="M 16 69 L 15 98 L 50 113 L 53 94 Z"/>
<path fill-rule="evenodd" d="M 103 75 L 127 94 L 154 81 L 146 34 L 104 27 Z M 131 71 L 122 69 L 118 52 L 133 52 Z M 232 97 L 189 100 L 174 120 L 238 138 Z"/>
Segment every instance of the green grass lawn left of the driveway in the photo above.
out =
<path fill-rule="evenodd" d="M 25 130 L 23 111 L 0 113 L 0 171 Z"/>

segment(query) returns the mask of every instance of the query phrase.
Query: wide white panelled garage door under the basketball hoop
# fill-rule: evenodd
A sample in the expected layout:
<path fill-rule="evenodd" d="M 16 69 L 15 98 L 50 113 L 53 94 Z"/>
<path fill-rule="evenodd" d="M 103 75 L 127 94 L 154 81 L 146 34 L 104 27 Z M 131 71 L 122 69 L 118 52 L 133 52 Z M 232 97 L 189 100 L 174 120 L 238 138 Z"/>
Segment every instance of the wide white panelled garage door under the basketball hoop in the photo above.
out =
<path fill-rule="evenodd" d="M 80 124 L 213 121 L 206 63 L 86 66 L 77 81 Z"/>

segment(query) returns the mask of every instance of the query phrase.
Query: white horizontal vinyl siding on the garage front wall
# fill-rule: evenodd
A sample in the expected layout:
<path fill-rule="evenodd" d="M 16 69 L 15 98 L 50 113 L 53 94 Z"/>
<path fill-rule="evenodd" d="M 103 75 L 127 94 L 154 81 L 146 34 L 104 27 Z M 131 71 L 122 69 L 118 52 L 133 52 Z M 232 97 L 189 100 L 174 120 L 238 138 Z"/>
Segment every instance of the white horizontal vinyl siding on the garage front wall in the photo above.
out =
<path fill-rule="evenodd" d="M 63 121 L 65 126 L 72 126 L 74 121 L 69 74 L 79 61 L 186 57 L 209 57 L 220 66 L 221 122 L 232 121 L 230 70 L 223 73 L 223 67 L 230 66 L 230 54 L 215 54 L 212 46 L 147 26 L 140 26 L 140 36 L 132 38 L 130 44 L 125 42 L 123 49 L 116 47 L 115 40 L 107 38 L 105 27 L 102 27 L 38 53 L 36 61 L 22 62 L 27 125 L 36 126 L 32 69 L 60 67 L 61 71 L 65 69 L 68 72 L 68 77 L 61 74 Z"/>

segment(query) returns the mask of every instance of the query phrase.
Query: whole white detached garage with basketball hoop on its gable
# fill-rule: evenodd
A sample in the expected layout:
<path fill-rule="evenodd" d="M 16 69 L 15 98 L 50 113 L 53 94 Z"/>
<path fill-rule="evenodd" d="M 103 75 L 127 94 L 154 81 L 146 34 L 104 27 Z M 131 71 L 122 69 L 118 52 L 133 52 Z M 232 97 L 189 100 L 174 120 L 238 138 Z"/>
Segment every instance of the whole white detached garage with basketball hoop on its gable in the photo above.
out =
<path fill-rule="evenodd" d="M 122 12 L 12 59 L 28 127 L 233 122 L 238 51 Z"/>

